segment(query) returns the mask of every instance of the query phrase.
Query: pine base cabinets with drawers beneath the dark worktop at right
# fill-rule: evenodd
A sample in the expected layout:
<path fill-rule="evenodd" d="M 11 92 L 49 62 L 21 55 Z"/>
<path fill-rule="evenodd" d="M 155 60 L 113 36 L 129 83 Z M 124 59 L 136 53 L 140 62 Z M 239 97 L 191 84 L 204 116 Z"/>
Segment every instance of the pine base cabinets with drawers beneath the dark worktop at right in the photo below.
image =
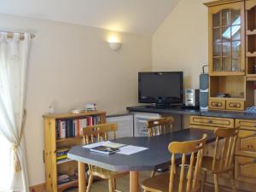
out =
<path fill-rule="evenodd" d="M 190 126 L 216 130 L 218 128 L 232 129 L 239 127 L 235 153 L 235 178 L 238 189 L 253 191 L 256 187 L 256 119 L 212 118 L 190 116 Z M 220 143 L 223 145 L 223 143 Z M 215 146 L 209 143 L 205 155 L 214 155 Z"/>

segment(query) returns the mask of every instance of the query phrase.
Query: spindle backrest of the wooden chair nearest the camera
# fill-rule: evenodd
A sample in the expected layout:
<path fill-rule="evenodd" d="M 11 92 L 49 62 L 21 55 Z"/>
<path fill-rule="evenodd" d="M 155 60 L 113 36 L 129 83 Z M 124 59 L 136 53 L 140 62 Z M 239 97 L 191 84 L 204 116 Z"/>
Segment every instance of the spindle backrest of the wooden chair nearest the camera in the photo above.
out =
<path fill-rule="evenodd" d="M 169 192 L 174 191 L 174 189 L 177 189 L 178 192 L 192 192 L 200 189 L 199 177 L 206 139 L 207 134 L 204 134 L 199 140 L 189 142 L 172 142 L 169 144 L 168 148 L 172 153 Z M 181 164 L 179 160 L 176 164 L 177 155 L 181 155 L 182 157 Z M 185 166 L 188 162 L 189 170 L 185 172 Z M 179 174 L 177 174 L 177 165 L 181 166 Z M 175 183 L 175 177 L 179 177 L 178 183 Z"/>

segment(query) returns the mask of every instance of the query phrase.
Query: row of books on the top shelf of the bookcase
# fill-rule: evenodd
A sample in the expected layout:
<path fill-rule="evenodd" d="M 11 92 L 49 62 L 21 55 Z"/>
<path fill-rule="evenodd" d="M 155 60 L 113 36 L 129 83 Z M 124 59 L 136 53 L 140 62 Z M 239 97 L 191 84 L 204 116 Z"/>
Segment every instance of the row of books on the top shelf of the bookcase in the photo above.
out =
<path fill-rule="evenodd" d="M 56 120 L 56 137 L 80 137 L 82 129 L 88 125 L 96 125 L 101 122 L 100 116 L 88 116 L 83 119 L 59 119 Z"/>

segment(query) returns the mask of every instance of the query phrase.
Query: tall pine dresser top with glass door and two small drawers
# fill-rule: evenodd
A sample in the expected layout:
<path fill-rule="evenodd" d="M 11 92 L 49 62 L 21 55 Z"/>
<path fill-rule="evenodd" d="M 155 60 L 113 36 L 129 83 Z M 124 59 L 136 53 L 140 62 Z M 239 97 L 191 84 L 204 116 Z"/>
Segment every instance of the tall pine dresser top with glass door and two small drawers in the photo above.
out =
<path fill-rule="evenodd" d="M 256 2 L 221 0 L 205 4 L 209 29 L 209 108 L 243 111 L 254 104 Z M 220 93 L 230 97 L 218 97 Z"/>

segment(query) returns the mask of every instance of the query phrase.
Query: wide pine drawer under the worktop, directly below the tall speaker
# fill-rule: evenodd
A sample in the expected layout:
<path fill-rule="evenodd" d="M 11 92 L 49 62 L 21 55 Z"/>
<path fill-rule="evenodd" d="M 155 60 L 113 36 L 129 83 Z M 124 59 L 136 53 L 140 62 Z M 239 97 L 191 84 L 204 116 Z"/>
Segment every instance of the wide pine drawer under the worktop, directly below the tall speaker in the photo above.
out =
<path fill-rule="evenodd" d="M 234 119 L 190 116 L 191 125 L 206 125 L 215 127 L 232 128 L 235 125 Z"/>

